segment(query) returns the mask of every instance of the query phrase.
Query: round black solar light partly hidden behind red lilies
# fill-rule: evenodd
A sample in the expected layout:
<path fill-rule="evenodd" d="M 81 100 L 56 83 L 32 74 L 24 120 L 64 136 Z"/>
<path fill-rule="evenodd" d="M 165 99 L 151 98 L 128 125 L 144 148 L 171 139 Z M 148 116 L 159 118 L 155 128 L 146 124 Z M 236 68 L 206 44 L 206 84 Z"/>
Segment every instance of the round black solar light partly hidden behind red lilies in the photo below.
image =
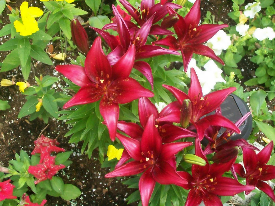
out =
<path fill-rule="evenodd" d="M 250 110 L 247 104 L 237 95 L 229 94 L 229 96 L 221 104 L 222 115 L 227 119 L 231 120 L 233 123 L 238 121 L 241 117 L 247 114 Z M 215 114 L 215 111 L 207 114 Z M 248 139 L 252 130 L 252 115 L 250 114 L 248 118 L 239 127 L 241 134 L 234 133 L 230 136 L 230 139 Z M 226 128 L 221 128 L 218 132 L 218 136 L 221 136 Z"/>

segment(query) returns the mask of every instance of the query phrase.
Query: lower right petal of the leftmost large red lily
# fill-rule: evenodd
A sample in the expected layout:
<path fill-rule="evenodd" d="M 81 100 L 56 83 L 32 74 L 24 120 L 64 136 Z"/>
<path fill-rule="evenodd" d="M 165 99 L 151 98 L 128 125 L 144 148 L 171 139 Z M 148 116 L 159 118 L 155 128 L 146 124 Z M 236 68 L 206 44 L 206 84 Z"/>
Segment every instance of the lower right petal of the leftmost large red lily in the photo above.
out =
<path fill-rule="evenodd" d="M 142 87 L 138 81 L 132 78 L 119 78 L 110 86 L 110 98 L 114 102 L 124 104 L 140 97 L 153 97 L 154 93 Z"/>

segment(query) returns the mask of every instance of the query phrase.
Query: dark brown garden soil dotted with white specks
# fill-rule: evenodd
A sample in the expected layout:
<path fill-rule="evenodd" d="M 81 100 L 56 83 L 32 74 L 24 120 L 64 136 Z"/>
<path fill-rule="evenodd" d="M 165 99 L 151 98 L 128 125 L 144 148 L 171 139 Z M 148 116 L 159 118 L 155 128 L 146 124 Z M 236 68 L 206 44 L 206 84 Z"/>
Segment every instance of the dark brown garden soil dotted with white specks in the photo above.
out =
<path fill-rule="evenodd" d="M 10 3 L 9 5 L 13 8 L 20 6 L 23 1 L 18 1 L 16 3 Z M 42 8 L 42 2 L 40 1 L 28 1 L 29 5 L 37 6 Z M 105 1 L 111 5 L 114 1 Z M 252 2 L 252 1 L 247 1 Z M 88 11 L 88 15 L 82 16 L 84 21 L 88 20 L 90 17 L 91 9 L 89 9 L 83 1 L 77 2 L 79 8 Z M 232 8 L 231 1 L 222 0 L 208 0 L 201 2 L 202 17 L 205 16 L 206 11 L 210 10 L 212 14 L 215 14 L 215 18 L 218 21 L 223 21 L 224 23 L 233 24 L 227 16 L 227 13 Z M 3 24 L 0 25 L 0 29 L 3 25 L 9 23 L 7 14 L 9 10 L 5 8 L 0 19 Z M 88 28 L 87 28 L 88 31 Z M 90 42 L 96 37 L 93 31 L 89 30 Z M 9 37 L 2 37 L 1 42 L 5 42 Z M 60 47 L 55 42 L 54 52 L 59 53 Z M 5 59 L 8 52 L 0 53 L 0 61 Z M 68 52 L 69 58 L 66 58 L 64 63 L 70 63 L 70 59 L 75 59 L 77 56 L 77 51 Z M 250 61 L 248 61 L 250 62 Z M 35 62 L 34 62 L 35 63 Z M 35 72 L 31 71 L 29 77 L 29 83 L 35 85 L 34 76 L 39 76 L 42 74 L 57 76 L 61 79 L 61 75 L 54 71 L 55 65 L 61 62 L 56 61 L 53 66 L 48 66 L 42 63 L 38 63 Z M 239 66 L 247 66 L 247 62 L 240 62 Z M 180 65 L 178 65 L 180 66 Z M 177 67 L 178 67 L 177 66 Z M 243 71 L 243 76 L 247 79 L 251 78 L 251 68 L 245 68 Z M 16 81 L 24 81 L 19 69 L 13 69 L 8 72 L 0 73 L 0 80 L 2 78 L 11 79 L 15 78 Z M 58 81 L 55 85 L 57 90 L 61 91 L 64 86 L 63 81 Z M 20 108 L 26 101 L 25 96 L 19 92 L 16 85 L 9 87 L 0 87 L 0 99 L 8 100 L 10 109 L 5 111 L 0 111 L 0 164 L 2 166 L 8 166 L 8 161 L 15 158 L 15 153 L 19 153 L 21 149 L 25 150 L 29 155 L 34 148 L 34 141 L 38 138 L 39 134 L 42 132 L 43 135 L 48 136 L 53 139 L 57 139 L 60 142 L 60 147 L 64 148 L 66 151 L 73 151 L 70 160 L 73 162 L 69 168 L 65 168 L 60 171 L 57 175 L 60 176 L 64 183 L 71 183 L 79 187 L 82 191 L 80 197 L 72 201 L 64 201 L 62 198 L 47 196 L 47 203 L 45 205 L 127 205 L 125 201 L 126 198 L 134 192 L 134 189 L 129 189 L 127 186 L 123 185 L 121 182 L 123 178 L 117 180 L 116 178 L 107 179 L 104 175 L 109 172 L 109 168 L 101 168 L 101 164 L 98 157 L 98 151 L 94 150 L 91 159 L 87 155 L 81 154 L 82 143 L 69 144 L 69 137 L 64 137 L 64 134 L 68 132 L 68 125 L 64 121 L 59 121 L 56 119 L 50 119 L 48 125 L 40 119 L 35 119 L 34 121 L 29 121 L 29 117 L 23 117 L 18 119 L 17 115 Z M 273 108 L 274 109 L 274 108 Z M 137 205 L 137 202 L 131 203 L 129 205 Z"/>

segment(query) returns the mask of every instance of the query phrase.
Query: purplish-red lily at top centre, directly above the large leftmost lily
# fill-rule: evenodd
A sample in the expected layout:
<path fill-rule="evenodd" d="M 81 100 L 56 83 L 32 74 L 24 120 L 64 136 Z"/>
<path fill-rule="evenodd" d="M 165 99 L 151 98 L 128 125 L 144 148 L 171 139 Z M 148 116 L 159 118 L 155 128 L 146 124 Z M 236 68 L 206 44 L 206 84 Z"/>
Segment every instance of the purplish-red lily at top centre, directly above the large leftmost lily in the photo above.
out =
<path fill-rule="evenodd" d="M 163 54 L 176 54 L 179 55 L 177 51 L 170 49 L 164 49 L 160 46 L 145 45 L 154 15 L 147 20 L 140 29 L 134 27 L 129 27 L 129 23 L 126 23 L 123 17 L 119 14 L 116 7 L 113 5 L 113 12 L 116 17 L 116 27 L 103 27 L 102 30 L 98 28 L 91 27 L 98 34 L 104 38 L 106 43 L 112 49 L 112 52 L 107 55 L 107 58 L 111 65 L 114 65 L 129 49 L 131 45 L 135 46 L 135 60 L 149 58 L 152 56 L 158 56 Z M 132 24 L 130 26 L 133 26 Z M 117 29 L 119 34 L 119 41 L 114 35 L 109 34 L 104 29 Z M 144 61 L 136 61 L 133 66 L 136 70 L 140 71 L 149 81 L 153 89 L 153 76 L 152 70 L 148 63 Z"/>

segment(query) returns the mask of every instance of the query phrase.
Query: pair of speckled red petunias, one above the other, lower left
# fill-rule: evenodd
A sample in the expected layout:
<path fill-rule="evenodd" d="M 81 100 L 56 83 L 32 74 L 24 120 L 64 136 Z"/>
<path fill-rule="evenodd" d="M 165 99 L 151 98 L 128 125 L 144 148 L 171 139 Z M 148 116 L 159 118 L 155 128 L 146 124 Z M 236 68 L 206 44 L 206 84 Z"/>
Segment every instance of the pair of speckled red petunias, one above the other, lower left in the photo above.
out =
<path fill-rule="evenodd" d="M 51 152 L 65 151 L 63 148 L 56 146 L 58 144 L 59 143 L 56 139 L 50 139 L 44 135 L 41 135 L 37 140 L 35 140 L 35 148 L 31 154 L 40 153 L 40 164 L 28 168 L 28 172 L 37 178 L 35 184 L 46 179 L 52 179 L 53 175 L 55 175 L 60 169 L 65 168 L 65 165 L 63 164 L 56 165 L 54 161 L 55 156 L 50 156 Z"/>

